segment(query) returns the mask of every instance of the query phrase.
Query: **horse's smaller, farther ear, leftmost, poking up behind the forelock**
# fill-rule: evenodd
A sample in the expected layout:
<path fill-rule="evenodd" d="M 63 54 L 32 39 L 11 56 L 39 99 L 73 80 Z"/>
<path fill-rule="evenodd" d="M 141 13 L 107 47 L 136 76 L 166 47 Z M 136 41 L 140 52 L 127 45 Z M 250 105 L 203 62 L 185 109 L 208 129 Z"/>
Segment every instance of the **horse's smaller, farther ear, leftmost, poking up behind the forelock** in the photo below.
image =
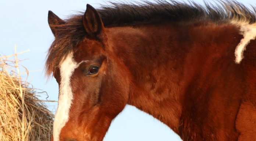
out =
<path fill-rule="evenodd" d="M 51 28 L 51 31 L 53 32 L 54 36 L 56 36 L 56 30 L 57 26 L 64 24 L 65 21 L 63 21 L 61 18 L 59 18 L 57 15 L 55 15 L 50 10 L 48 11 L 48 23 Z"/>

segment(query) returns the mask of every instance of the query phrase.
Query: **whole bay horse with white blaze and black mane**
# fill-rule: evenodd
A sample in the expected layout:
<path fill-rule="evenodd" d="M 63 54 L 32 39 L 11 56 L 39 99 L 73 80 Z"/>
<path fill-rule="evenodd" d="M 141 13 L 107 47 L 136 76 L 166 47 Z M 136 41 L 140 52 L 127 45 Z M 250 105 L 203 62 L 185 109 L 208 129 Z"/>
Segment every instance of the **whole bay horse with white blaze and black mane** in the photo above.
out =
<path fill-rule="evenodd" d="M 237 1 L 112 3 L 60 19 L 46 74 L 53 141 L 102 141 L 134 105 L 184 141 L 256 140 L 256 10 Z"/>

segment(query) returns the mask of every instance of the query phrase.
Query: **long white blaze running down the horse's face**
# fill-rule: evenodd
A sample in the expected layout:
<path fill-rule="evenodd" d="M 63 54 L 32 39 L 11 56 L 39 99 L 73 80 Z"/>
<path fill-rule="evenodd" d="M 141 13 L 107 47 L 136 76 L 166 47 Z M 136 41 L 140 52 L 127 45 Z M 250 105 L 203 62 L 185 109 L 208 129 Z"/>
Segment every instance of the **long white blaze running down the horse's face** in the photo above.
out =
<path fill-rule="evenodd" d="M 76 63 L 73 59 L 73 53 L 69 53 L 65 60 L 60 64 L 60 92 L 58 98 L 58 108 L 55 114 L 53 123 L 53 140 L 60 140 L 60 131 L 65 126 L 69 118 L 69 110 L 73 100 L 72 89 L 70 86 L 70 78 L 75 70 L 81 63 L 88 60 Z"/>

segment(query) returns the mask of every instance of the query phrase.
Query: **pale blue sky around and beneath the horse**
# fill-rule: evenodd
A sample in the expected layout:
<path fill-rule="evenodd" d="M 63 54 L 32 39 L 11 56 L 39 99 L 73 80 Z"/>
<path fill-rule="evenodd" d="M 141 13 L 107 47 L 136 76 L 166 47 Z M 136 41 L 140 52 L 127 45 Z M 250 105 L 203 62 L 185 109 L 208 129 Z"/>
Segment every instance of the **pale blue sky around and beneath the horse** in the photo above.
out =
<path fill-rule="evenodd" d="M 194 1 L 202 3 L 202 0 Z M 254 0 L 238 1 L 246 5 L 256 5 Z M 105 0 L 0 1 L 0 54 L 13 54 L 15 44 L 17 44 L 18 52 L 30 49 L 29 52 L 18 57 L 28 59 L 21 63 L 31 71 L 28 81 L 35 88 L 47 91 L 48 100 L 58 98 L 58 85 L 55 79 L 47 82 L 43 71 L 47 49 L 54 40 L 47 23 L 48 10 L 53 11 L 60 18 L 67 18 L 76 11 L 85 11 L 87 3 L 97 8 L 100 4 L 107 2 Z M 46 98 L 45 94 L 40 94 L 40 96 L 42 99 Z M 47 103 L 47 105 L 50 110 L 55 110 L 57 107 L 57 103 Z M 111 124 L 104 141 L 181 141 L 181 139 L 157 119 L 135 107 L 127 106 Z"/>

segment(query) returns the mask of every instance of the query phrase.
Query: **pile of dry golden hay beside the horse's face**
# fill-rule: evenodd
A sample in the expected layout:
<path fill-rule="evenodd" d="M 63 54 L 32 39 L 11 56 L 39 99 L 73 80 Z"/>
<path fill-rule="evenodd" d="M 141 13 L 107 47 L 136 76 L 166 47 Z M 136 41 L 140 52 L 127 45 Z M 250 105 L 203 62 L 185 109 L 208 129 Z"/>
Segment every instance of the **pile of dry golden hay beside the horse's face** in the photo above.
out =
<path fill-rule="evenodd" d="M 53 114 L 21 78 L 20 61 L 0 56 L 0 141 L 50 141 Z"/>

